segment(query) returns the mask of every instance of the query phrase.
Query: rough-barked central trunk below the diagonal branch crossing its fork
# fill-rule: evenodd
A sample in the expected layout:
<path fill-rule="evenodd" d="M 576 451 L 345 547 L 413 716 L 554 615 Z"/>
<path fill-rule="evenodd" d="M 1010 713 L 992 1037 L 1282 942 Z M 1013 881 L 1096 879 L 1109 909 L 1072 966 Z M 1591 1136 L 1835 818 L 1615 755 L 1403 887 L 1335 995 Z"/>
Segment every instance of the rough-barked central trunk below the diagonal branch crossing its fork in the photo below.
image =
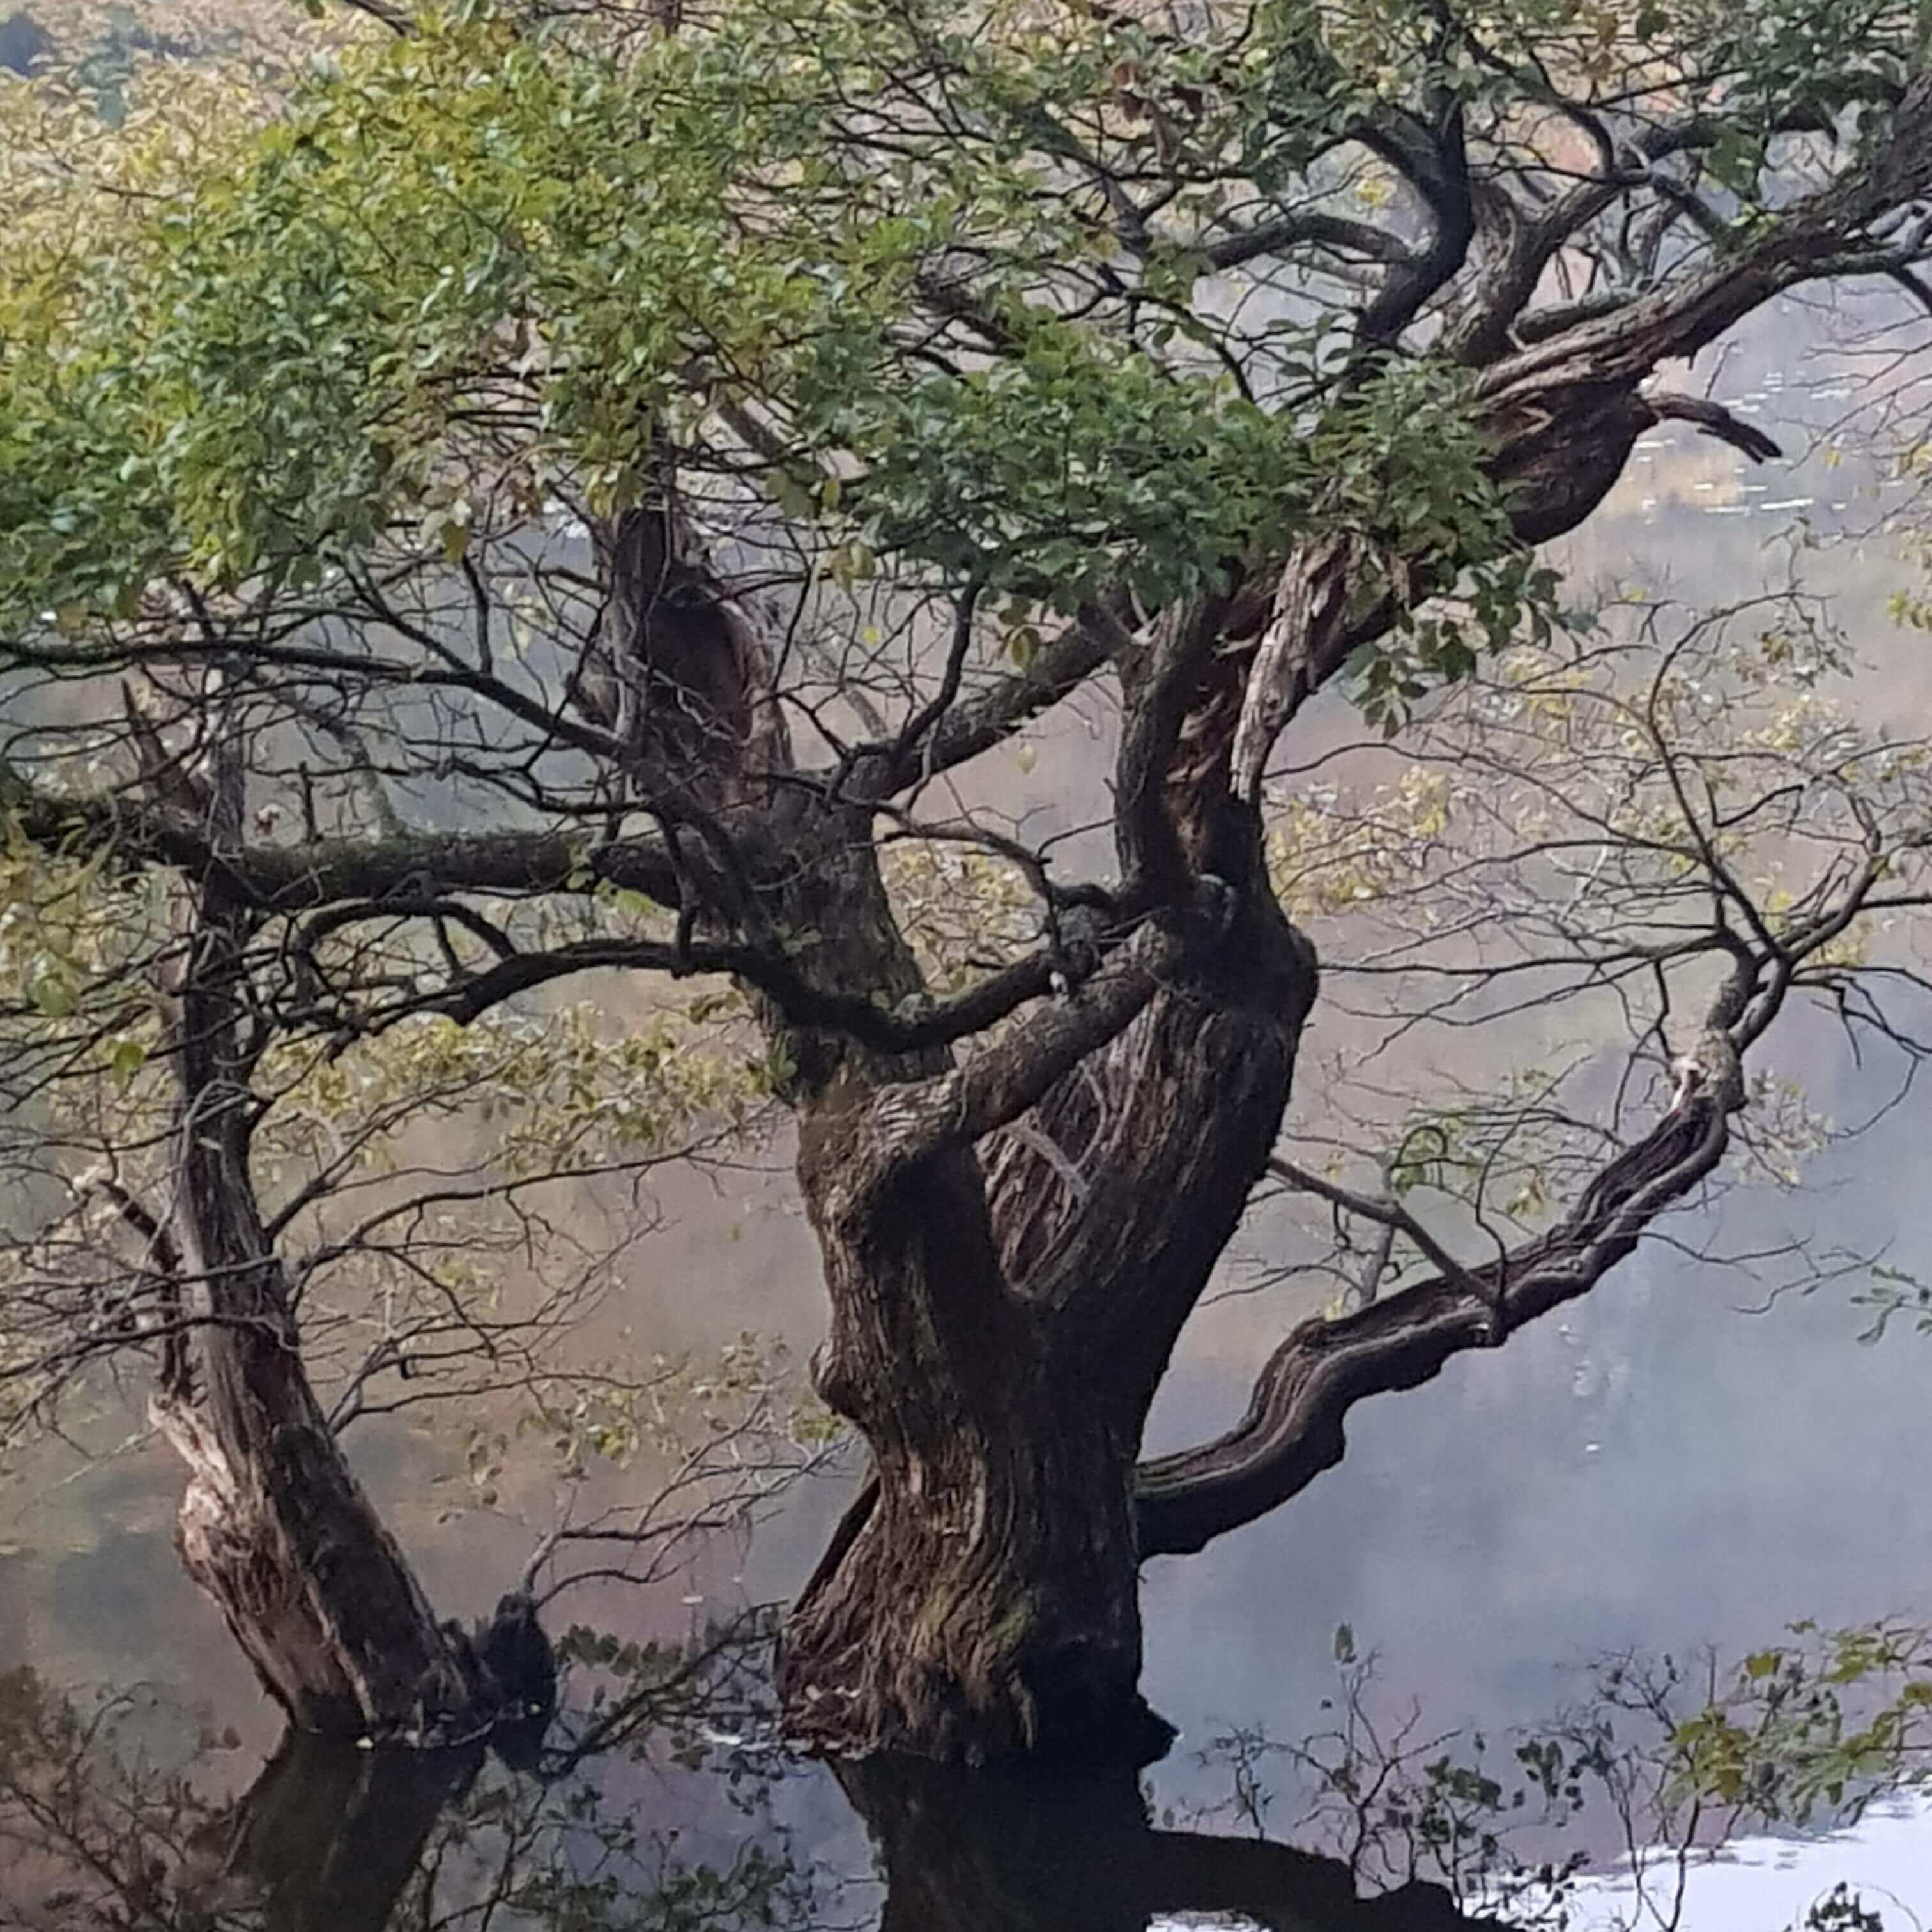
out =
<path fill-rule="evenodd" d="M 1254 935 L 1236 925 L 1229 958 Z M 1300 966 L 1291 954 L 1291 970 Z M 1144 1754 L 1132 1463 L 1148 1405 L 1281 1121 L 1306 980 L 1163 987 L 995 1167 L 947 1151 L 877 1196 L 808 1122 L 833 1296 L 819 1387 L 873 1501 L 786 1631 L 802 1729 L 842 1748 Z M 1049 1140 L 1053 1153 L 1041 1151 Z"/>

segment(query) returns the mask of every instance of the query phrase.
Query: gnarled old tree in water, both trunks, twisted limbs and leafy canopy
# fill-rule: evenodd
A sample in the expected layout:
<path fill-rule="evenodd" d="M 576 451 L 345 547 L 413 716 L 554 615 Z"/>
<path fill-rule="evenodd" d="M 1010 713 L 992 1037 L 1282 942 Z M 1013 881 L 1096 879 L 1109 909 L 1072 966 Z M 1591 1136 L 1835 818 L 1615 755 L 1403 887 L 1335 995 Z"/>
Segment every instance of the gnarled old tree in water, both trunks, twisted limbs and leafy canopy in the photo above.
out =
<path fill-rule="evenodd" d="M 1835 740 L 1766 728 L 1733 808 L 1750 759 L 1677 748 L 1721 653 L 1673 697 L 1658 639 L 1633 701 L 1505 647 L 1553 647 L 1534 549 L 1646 429 L 1774 454 L 1660 371 L 1806 284 L 1928 299 L 1918 10 L 328 25 L 226 120 L 131 116 L 104 195 L 35 176 L 0 270 L 17 1103 L 170 1082 L 91 1196 L 120 1291 L 73 1320 L 155 1352 L 189 1567 L 305 1723 L 475 1694 L 311 1389 L 257 1144 L 278 1055 L 724 976 L 796 1119 L 815 1381 L 871 1455 L 786 1625 L 798 1733 L 1151 1748 L 1138 1565 L 1294 1495 L 1358 1399 L 1588 1291 L 1714 1173 L 1793 989 L 1841 987 L 1853 922 L 1917 891 L 1918 765 L 1874 767 L 1874 806 Z M 43 106 L 58 147 L 79 108 Z M 1544 721 L 1582 827 L 1495 837 L 1555 873 L 1615 848 L 1557 937 L 1656 1001 L 1656 1078 L 1457 1260 L 1399 1188 L 1275 1159 L 1318 962 L 1269 864 L 1296 792 L 1264 781 L 1345 672 L 1405 732 L 1492 667 L 1480 769 L 1544 782 Z M 974 761 L 1090 690 L 1094 823 L 999 819 Z M 1741 850 L 1795 798 L 1824 856 L 1766 906 Z M 947 879 L 989 871 L 997 918 L 935 951 Z M 1140 1463 L 1271 1163 L 1379 1219 L 1383 1265 L 1233 1434 Z"/>

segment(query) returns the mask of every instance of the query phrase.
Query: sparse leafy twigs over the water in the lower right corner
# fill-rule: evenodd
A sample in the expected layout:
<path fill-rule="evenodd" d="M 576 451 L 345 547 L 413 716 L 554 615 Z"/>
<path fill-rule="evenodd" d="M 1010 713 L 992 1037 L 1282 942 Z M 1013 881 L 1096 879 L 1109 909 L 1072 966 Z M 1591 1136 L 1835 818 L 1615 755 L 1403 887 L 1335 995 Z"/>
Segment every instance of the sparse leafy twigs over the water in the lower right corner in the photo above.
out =
<path fill-rule="evenodd" d="M 1298 1833 L 1364 1886 L 1443 1884 L 1507 1924 L 1561 1928 L 1588 1909 L 1592 1924 L 1694 1932 L 1685 1874 L 1737 1837 L 1849 1828 L 1924 1785 L 1928 1671 L 1924 1629 L 1793 1625 L 1733 1665 L 1605 1658 L 1573 1710 L 1493 1741 L 1393 1700 L 1349 1633 L 1333 1723 L 1296 1745 L 1215 1739 L 1202 1762 L 1227 1797 L 1204 1816 L 1262 1832 L 1293 1806 Z M 1590 1843 L 1627 1853 L 1602 1868 Z M 1839 1886 L 1806 1924 L 1853 1932 L 1862 1909 Z"/>

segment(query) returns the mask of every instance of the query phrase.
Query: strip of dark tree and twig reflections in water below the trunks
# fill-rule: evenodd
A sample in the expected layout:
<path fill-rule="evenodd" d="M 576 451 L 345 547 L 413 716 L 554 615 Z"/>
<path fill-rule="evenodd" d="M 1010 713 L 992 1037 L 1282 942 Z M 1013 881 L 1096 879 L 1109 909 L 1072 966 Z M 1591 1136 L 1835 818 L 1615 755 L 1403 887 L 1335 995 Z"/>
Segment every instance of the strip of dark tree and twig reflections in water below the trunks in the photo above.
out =
<path fill-rule="evenodd" d="M 510 1764 L 483 1747 L 288 1737 L 240 1793 L 234 1733 L 166 1696 L 77 1698 L 12 1671 L 0 1677 L 0 1926 L 1918 1922 L 1901 1895 L 1924 1862 L 1909 1833 L 1922 1855 L 1932 1818 L 1901 1806 L 1899 1791 L 1932 1750 L 1932 1642 L 1920 1631 L 1799 1633 L 1733 1671 L 1625 1658 L 1602 1665 L 1573 1708 L 1501 1741 L 1439 1729 L 1385 1692 L 1368 1660 L 1345 1656 L 1310 1735 L 1231 1731 L 1194 1752 L 1196 1783 L 1213 1795 L 1182 1816 L 1161 1812 L 1130 1772 L 802 1764 L 777 1747 L 769 1636 L 761 1617 L 686 1644 L 572 1631 L 560 1644 L 570 1698 L 541 1752 Z M 850 1810 L 827 1808 L 835 1793 Z M 1847 1835 L 1847 1822 L 1870 1830 Z M 1747 1826 L 1760 1837 L 1743 1862 L 1710 1864 Z M 1766 1839 L 1768 1826 L 1785 1835 Z M 1866 1841 L 1889 1884 L 1878 1866 L 1861 1870 Z M 1605 1874 L 1621 1845 L 1642 1849 L 1638 1868 Z"/>

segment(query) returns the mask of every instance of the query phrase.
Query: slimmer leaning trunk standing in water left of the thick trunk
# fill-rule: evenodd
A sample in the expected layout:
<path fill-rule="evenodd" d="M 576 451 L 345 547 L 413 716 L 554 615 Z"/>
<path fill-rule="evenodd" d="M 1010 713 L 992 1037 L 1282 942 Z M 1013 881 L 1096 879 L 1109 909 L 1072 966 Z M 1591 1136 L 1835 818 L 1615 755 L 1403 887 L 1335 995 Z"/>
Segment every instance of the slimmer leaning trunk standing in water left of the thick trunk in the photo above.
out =
<path fill-rule="evenodd" d="M 218 794 L 207 810 L 232 815 Z M 187 1464 L 182 1561 L 298 1729 L 412 1743 L 483 1735 L 522 1716 L 506 1708 L 522 1687 L 498 1683 L 460 1629 L 439 1625 L 301 1364 L 249 1175 L 247 916 L 218 885 L 180 904 L 174 1211 L 151 1250 L 172 1281 L 153 1414 Z M 524 1619 L 518 1600 L 504 1605 L 491 1642 L 508 1654 Z"/>

